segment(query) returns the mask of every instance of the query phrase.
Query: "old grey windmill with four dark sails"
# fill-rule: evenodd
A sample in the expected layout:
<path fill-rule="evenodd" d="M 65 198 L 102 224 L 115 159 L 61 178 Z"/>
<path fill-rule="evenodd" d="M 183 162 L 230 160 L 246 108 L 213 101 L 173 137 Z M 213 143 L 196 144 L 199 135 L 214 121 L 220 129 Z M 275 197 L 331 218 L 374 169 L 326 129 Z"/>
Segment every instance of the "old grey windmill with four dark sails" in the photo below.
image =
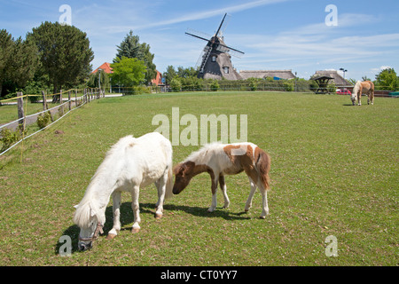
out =
<path fill-rule="evenodd" d="M 194 36 L 207 42 L 204 50 L 200 54 L 196 67 L 199 67 L 199 77 L 204 79 L 217 79 L 226 78 L 228 80 L 239 80 L 241 76 L 232 67 L 231 55 L 239 57 L 244 54 L 243 51 L 236 50 L 227 46 L 223 41 L 223 31 L 226 28 L 226 16 L 224 14 L 223 20 L 217 28 L 215 36 L 207 39 L 200 35 L 199 32 L 190 30 L 186 32 L 188 36 Z"/>

